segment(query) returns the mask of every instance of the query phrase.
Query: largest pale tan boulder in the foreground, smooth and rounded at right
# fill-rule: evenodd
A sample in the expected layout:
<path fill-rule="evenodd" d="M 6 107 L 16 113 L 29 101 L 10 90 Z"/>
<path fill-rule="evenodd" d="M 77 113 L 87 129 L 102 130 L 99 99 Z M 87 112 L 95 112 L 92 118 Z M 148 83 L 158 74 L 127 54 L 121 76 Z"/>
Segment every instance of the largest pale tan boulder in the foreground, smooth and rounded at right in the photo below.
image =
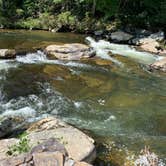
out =
<path fill-rule="evenodd" d="M 95 158 L 94 140 L 56 118 L 41 120 L 33 124 L 27 132 L 32 147 L 49 138 L 56 138 L 65 146 L 69 158 L 87 162 L 91 162 Z"/>

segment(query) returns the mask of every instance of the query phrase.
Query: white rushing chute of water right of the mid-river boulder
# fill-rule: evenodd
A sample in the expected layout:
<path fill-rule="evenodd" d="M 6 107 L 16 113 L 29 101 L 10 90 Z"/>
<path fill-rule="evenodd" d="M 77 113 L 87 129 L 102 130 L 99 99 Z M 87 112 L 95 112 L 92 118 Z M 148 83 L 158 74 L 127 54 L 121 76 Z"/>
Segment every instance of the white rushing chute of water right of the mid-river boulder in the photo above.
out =
<path fill-rule="evenodd" d="M 128 45 L 114 44 L 104 40 L 99 40 L 98 42 L 96 42 L 91 37 L 87 37 L 86 40 L 90 43 L 90 46 L 94 48 L 97 56 L 103 59 L 112 60 L 113 62 L 118 64 L 120 62 L 110 57 L 109 52 L 132 58 L 142 64 L 147 64 L 147 65 L 159 59 L 156 55 L 147 52 L 137 51 L 135 48 L 132 48 Z"/>

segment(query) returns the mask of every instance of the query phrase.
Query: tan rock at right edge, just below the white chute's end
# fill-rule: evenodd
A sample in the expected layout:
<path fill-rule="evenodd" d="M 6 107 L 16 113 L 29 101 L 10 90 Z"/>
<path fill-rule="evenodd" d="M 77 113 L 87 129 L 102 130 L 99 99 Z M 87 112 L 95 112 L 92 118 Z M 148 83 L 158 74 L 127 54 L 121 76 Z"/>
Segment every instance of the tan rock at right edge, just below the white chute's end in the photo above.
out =
<path fill-rule="evenodd" d="M 150 68 L 166 72 L 166 58 L 163 58 L 163 59 L 161 59 L 159 61 L 156 61 L 155 63 L 151 64 Z"/>

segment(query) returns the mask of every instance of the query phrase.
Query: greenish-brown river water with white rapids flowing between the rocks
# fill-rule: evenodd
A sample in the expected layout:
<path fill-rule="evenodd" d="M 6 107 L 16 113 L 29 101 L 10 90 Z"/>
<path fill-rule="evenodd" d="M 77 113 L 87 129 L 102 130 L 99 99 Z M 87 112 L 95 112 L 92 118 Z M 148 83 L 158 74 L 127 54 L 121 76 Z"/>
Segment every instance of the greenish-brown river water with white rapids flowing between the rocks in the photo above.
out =
<path fill-rule="evenodd" d="M 84 39 L 75 34 L 0 31 L 1 48 L 31 49 Z M 112 165 L 124 165 L 126 156 L 138 154 L 145 145 L 164 160 L 166 75 L 151 73 L 146 66 L 157 57 L 129 46 L 88 41 L 99 58 L 64 62 L 37 51 L 0 60 L 1 121 L 12 116 L 29 123 L 57 116 L 102 143 L 98 155 L 107 156 Z"/>

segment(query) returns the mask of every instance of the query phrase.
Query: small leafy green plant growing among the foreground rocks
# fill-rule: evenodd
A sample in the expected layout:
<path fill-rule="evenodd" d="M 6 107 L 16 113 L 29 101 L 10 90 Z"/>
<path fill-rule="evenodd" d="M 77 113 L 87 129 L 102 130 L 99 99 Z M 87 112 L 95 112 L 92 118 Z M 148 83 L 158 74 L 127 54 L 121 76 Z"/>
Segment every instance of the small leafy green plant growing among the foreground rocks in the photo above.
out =
<path fill-rule="evenodd" d="M 29 152 L 31 147 L 29 146 L 29 139 L 27 134 L 24 133 L 19 137 L 19 142 L 9 147 L 7 155 L 15 156 L 18 154 Z"/>

